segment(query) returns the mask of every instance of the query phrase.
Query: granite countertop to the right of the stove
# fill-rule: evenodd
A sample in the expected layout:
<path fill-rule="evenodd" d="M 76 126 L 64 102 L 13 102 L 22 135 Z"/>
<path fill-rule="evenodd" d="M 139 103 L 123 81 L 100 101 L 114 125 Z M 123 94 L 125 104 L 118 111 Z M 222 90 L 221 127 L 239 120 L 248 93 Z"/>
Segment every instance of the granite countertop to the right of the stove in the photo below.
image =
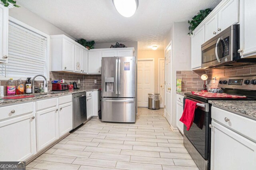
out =
<path fill-rule="evenodd" d="M 210 104 L 223 108 L 231 112 L 238 112 L 246 117 L 256 119 L 256 101 L 241 101 L 241 100 L 210 100 Z"/>

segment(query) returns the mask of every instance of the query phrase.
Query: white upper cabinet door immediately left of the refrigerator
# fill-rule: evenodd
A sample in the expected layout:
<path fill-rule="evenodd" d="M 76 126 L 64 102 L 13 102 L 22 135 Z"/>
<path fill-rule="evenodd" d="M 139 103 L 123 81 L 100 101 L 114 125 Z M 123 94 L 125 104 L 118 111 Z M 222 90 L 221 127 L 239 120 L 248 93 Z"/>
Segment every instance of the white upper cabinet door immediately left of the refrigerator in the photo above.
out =
<path fill-rule="evenodd" d="M 88 74 L 100 74 L 101 51 L 88 51 Z"/>

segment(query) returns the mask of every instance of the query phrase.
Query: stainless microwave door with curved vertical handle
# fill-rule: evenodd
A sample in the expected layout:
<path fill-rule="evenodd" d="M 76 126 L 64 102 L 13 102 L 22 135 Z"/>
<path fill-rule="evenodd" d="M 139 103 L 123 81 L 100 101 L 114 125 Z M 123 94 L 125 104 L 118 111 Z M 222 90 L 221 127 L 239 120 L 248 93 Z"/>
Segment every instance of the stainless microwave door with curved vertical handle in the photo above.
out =
<path fill-rule="evenodd" d="M 207 41 L 209 42 L 209 41 Z M 221 64 L 223 45 L 222 36 L 215 37 L 209 43 L 202 45 L 202 68 L 209 68 Z"/>

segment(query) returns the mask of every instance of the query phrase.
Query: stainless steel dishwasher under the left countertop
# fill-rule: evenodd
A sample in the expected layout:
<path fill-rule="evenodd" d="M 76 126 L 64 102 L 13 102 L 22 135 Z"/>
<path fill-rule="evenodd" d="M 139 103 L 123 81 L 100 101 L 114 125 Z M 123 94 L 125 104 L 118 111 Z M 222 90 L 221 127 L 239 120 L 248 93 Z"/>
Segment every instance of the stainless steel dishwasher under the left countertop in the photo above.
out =
<path fill-rule="evenodd" d="M 87 120 L 86 92 L 72 94 L 73 103 L 73 129 Z"/>

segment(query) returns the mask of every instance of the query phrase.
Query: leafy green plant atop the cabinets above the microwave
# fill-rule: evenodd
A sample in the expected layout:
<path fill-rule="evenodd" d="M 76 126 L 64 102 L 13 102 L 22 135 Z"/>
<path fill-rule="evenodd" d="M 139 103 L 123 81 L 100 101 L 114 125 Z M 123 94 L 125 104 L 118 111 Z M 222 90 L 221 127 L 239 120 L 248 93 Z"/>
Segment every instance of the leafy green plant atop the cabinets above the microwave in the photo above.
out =
<path fill-rule="evenodd" d="M 194 29 L 196 29 L 196 27 L 210 14 L 210 12 L 212 12 L 211 8 L 200 10 L 199 13 L 197 13 L 198 15 L 194 16 L 191 21 L 188 20 L 188 23 L 190 24 L 188 27 L 189 35 L 193 35 Z"/>

